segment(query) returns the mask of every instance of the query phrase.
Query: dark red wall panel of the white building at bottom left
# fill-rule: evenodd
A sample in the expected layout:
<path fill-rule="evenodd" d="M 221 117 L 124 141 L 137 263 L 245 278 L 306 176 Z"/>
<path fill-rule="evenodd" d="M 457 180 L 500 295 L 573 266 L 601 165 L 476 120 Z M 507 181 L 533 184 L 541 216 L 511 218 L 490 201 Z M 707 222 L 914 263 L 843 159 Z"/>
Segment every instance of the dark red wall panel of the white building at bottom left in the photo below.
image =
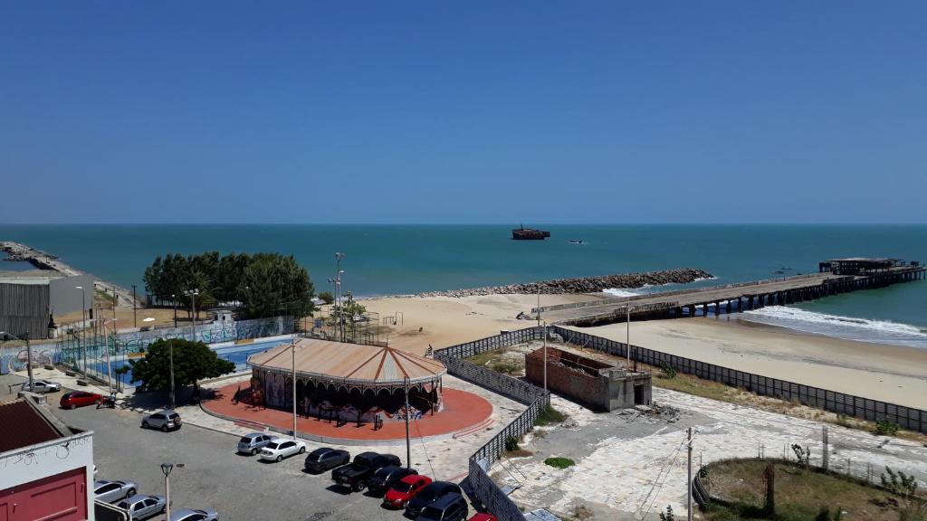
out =
<path fill-rule="evenodd" d="M 0 490 L 0 521 L 81 521 L 87 518 L 87 474 L 80 467 Z"/>

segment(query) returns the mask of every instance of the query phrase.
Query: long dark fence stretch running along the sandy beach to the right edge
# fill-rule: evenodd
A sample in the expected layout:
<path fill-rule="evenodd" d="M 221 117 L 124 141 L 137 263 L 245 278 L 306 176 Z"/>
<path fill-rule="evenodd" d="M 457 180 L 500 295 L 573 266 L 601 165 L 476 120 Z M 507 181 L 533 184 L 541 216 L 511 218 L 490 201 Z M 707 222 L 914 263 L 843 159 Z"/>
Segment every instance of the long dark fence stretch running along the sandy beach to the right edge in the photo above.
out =
<path fill-rule="evenodd" d="M 628 356 L 628 346 L 603 337 L 566 329 L 557 325 L 548 326 L 564 340 L 585 348 L 596 349 L 619 357 Z M 632 346 L 631 359 L 663 367 L 668 365 L 679 373 L 694 375 L 734 388 L 744 388 L 760 396 L 771 396 L 780 400 L 797 400 L 802 405 L 823 409 L 831 413 L 846 414 L 863 420 L 885 420 L 902 428 L 927 433 L 927 412 L 921 409 L 895 405 L 879 400 L 870 400 L 832 390 L 815 388 L 794 382 L 754 375 L 713 363 L 699 362 L 691 358 L 668 354 L 654 349 Z"/>

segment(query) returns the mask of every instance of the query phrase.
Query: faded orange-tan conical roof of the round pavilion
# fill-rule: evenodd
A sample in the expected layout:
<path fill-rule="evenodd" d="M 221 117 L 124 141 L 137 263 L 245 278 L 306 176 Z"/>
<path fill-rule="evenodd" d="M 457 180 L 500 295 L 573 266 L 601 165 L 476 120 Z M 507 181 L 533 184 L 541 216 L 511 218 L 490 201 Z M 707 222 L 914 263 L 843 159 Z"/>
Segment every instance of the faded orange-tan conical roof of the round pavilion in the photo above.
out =
<path fill-rule="evenodd" d="M 395 386 L 429 382 L 447 373 L 437 360 L 400 349 L 332 342 L 317 338 L 296 341 L 296 373 L 319 381 L 364 386 Z M 254 353 L 248 365 L 279 373 L 293 371 L 290 343 Z"/>

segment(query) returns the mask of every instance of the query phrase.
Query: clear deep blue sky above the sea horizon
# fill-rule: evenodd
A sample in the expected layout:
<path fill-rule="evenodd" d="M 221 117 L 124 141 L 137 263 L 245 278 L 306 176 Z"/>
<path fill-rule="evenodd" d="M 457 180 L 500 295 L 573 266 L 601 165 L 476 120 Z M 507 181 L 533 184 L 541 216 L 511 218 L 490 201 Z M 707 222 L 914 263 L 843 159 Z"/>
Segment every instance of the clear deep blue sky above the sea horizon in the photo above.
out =
<path fill-rule="evenodd" d="M 0 222 L 927 222 L 927 3 L 0 6 Z"/>

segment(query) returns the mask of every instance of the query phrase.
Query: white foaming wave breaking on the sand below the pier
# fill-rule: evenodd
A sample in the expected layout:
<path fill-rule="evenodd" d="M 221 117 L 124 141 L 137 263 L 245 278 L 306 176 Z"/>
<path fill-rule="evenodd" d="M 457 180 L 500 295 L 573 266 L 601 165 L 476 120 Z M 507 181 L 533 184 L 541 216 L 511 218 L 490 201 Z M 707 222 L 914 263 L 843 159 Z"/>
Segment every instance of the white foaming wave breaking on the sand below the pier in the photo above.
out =
<path fill-rule="evenodd" d="M 829 337 L 927 348 L 925 331 L 910 324 L 832 315 L 788 306 L 769 306 L 744 311 L 743 315 L 746 320 L 753 322 L 781 325 Z"/>

